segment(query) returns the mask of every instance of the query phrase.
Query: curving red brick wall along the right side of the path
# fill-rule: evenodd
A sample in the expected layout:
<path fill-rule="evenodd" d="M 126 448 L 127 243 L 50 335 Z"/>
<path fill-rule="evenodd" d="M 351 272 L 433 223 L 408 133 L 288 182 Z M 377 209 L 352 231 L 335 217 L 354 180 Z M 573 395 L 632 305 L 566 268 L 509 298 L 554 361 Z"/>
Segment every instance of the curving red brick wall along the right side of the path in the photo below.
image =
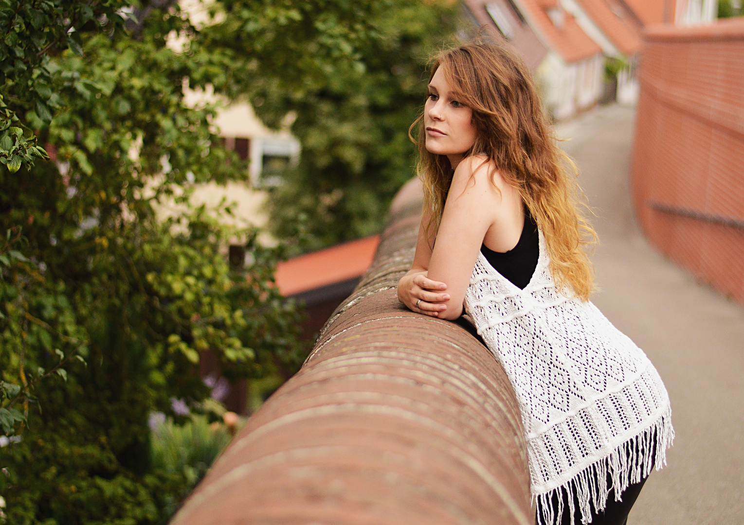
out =
<path fill-rule="evenodd" d="M 650 241 L 744 303 L 744 19 L 645 34 L 631 188 Z"/>

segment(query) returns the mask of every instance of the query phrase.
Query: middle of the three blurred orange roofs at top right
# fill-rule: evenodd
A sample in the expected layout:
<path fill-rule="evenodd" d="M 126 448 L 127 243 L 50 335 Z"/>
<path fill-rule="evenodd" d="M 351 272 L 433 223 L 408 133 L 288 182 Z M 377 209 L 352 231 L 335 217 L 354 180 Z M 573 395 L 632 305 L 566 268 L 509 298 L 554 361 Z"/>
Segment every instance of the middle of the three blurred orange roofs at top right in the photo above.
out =
<path fill-rule="evenodd" d="M 618 0 L 576 0 L 602 33 L 625 55 L 641 51 L 641 28 L 632 13 Z"/>

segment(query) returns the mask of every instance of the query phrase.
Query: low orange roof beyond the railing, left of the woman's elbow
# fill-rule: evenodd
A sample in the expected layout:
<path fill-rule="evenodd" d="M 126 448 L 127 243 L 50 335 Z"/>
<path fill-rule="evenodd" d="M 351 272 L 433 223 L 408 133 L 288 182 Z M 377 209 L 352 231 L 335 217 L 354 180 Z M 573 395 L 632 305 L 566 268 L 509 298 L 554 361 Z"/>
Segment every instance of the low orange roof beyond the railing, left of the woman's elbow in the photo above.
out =
<path fill-rule="evenodd" d="M 285 297 L 360 277 L 372 264 L 379 235 L 280 262 L 275 279 Z"/>

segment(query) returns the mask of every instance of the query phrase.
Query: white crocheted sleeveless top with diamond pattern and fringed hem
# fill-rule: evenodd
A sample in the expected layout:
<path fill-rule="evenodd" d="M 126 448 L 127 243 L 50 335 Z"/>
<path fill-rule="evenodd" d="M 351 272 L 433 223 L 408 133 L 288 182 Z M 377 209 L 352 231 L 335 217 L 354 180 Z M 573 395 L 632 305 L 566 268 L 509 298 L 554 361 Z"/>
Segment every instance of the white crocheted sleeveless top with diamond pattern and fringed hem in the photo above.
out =
<path fill-rule="evenodd" d="M 671 409 L 644 352 L 591 302 L 559 294 L 549 265 L 542 231 L 523 290 L 478 254 L 465 310 L 516 392 L 539 518 L 560 522 L 551 497 L 565 491 L 571 516 L 575 495 L 586 523 L 610 489 L 618 495 L 666 463 Z"/>

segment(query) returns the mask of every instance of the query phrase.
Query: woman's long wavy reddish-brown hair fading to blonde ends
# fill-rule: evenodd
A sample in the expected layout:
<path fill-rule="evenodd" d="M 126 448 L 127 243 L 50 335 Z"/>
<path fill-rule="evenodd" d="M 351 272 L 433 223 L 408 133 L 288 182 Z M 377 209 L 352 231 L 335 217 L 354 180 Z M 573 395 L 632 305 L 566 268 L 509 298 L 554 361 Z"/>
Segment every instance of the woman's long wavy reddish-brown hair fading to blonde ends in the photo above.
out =
<path fill-rule="evenodd" d="M 431 64 L 429 80 L 443 68 L 450 89 L 472 110 L 476 139 L 466 155 L 486 155 L 504 181 L 519 190 L 545 236 L 557 289 L 587 300 L 594 268 L 585 248 L 597 234 L 580 210 L 588 208 L 577 167 L 557 146 L 526 66 L 510 46 L 484 39 L 441 51 Z M 432 210 L 426 231 L 437 231 L 453 170 L 446 155 L 426 150 L 423 113 L 408 136 L 419 148 L 417 174 L 424 205 Z"/>

